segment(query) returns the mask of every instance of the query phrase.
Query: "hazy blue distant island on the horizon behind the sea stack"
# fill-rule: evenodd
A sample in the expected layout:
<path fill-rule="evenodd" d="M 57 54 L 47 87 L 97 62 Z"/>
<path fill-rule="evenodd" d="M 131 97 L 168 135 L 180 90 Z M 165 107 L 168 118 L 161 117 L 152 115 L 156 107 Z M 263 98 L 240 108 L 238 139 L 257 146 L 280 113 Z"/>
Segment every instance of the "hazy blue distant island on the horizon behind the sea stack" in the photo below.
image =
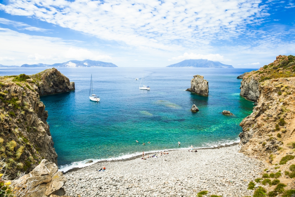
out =
<path fill-rule="evenodd" d="M 166 67 L 234 68 L 232 65 L 226 65 L 219 61 L 210 61 L 207 59 L 188 59 Z"/>

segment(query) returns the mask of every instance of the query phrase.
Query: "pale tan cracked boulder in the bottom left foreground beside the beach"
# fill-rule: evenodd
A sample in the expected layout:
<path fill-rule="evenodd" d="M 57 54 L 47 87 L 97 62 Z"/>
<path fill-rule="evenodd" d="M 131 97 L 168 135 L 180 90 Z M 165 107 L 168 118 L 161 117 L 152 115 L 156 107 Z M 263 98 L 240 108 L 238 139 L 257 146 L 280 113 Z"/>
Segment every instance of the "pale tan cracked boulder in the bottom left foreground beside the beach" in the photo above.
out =
<path fill-rule="evenodd" d="M 55 163 L 43 159 L 32 172 L 12 181 L 17 191 L 27 191 L 27 197 L 63 196 L 66 178 Z"/>

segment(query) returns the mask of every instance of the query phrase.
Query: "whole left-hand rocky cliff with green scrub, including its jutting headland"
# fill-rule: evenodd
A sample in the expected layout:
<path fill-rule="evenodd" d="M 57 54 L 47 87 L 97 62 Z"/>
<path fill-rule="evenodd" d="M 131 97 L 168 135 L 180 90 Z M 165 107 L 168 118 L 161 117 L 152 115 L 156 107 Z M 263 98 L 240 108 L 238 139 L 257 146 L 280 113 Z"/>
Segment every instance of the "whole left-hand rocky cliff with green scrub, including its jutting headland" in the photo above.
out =
<path fill-rule="evenodd" d="M 19 171 L 32 171 L 44 158 L 57 164 L 48 114 L 39 95 L 73 88 L 56 69 L 0 77 L 0 157 L 12 178 Z"/>

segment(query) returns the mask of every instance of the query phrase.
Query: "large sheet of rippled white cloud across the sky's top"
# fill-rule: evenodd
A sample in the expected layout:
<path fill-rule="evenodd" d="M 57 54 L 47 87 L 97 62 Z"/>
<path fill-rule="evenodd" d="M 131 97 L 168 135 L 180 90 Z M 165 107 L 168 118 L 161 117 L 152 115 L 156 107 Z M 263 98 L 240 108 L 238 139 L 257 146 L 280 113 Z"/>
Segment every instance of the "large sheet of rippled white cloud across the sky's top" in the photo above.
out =
<path fill-rule="evenodd" d="M 132 46 L 181 50 L 240 35 L 266 15 L 260 0 L 10 0 L 0 9 Z M 255 22 L 254 22 L 255 21 Z"/>

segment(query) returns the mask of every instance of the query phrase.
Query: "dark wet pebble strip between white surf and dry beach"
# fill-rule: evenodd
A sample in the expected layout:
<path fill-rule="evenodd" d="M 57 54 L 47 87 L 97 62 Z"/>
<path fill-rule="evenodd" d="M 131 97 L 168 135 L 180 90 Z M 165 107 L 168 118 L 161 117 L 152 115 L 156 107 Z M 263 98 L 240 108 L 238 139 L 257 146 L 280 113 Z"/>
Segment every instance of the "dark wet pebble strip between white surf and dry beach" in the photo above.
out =
<path fill-rule="evenodd" d="M 239 145 L 239 142 L 233 142 L 232 144 L 225 144 L 225 145 L 220 145 L 220 146 L 216 146 L 216 147 L 206 147 L 206 148 L 194 148 L 193 150 L 206 150 L 206 149 L 220 149 L 220 148 L 224 148 L 224 147 L 230 147 L 230 146 L 237 146 Z M 190 148 L 187 148 L 187 149 L 168 149 L 168 152 L 172 152 L 172 151 L 183 151 L 183 150 L 189 150 Z M 155 151 L 155 152 L 148 152 L 148 154 L 157 154 L 158 152 L 160 151 Z M 134 159 L 137 159 L 137 158 L 140 158 L 142 157 L 141 154 L 139 155 L 136 155 L 136 156 L 132 156 L 132 157 L 129 157 L 129 158 L 126 158 L 126 159 L 112 159 L 112 160 L 101 160 L 101 161 L 97 161 L 97 162 L 93 162 L 91 163 L 90 165 L 87 165 L 87 166 L 84 166 L 84 167 L 73 167 L 67 171 L 61 171 L 63 172 L 63 174 L 67 174 L 67 173 L 70 173 L 70 172 L 76 172 L 78 170 L 81 170 L 83 168 L 86 168 L 86 167 L 89 167 L 91 165 L 95 165 L 95 164 L 98 164 L 98 163 L 104 163 L 104 162 L 121 162 L 121 161 L 130 161 L 130 160 L 134 160 Z M 91 159 L 90 159 L 91 160 Z"/>

